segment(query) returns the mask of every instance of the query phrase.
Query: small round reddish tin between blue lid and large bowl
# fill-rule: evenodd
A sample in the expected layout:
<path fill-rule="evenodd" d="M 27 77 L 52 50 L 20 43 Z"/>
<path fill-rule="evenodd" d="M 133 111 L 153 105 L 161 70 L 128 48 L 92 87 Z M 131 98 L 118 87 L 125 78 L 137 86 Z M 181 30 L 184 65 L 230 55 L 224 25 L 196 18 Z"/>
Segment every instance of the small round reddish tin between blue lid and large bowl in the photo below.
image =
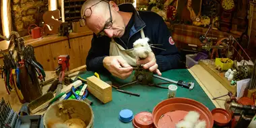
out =
<path fill-rule="evenodd" d="M 149 112 L 141 112 L 135 115 L 133 126 L 136 128 L 152 128 L 154 127 L 153 115 Z"/>

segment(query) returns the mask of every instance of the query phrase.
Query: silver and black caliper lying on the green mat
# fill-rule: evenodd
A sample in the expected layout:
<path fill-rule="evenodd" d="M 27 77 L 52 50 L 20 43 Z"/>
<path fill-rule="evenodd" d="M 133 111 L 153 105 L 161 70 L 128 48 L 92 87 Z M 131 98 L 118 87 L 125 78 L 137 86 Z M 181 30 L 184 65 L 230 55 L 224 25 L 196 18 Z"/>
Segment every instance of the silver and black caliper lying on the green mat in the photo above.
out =
<path fill-rule="evenodd" d="M 193 90 L 194 88 L 194 83 L 186 83 L 186 82 L 183 82 L 182 80 L 179 80 L 179 81 L 174 81 L 172 79 L 168 79 L 166 77 L 161 77 L 159 75 L 153 75 L 154 77 L 158 78 L 158 79 L 162 79 L 162 80 L 165 80 L 166 82 L 170 82 L 170 83 L 173 83 L 173 84 L 177 84 L 178 86 L 181 86 L 181 87 L 184 87 L 184 88 L 187 88 L 189 90 Z"/>

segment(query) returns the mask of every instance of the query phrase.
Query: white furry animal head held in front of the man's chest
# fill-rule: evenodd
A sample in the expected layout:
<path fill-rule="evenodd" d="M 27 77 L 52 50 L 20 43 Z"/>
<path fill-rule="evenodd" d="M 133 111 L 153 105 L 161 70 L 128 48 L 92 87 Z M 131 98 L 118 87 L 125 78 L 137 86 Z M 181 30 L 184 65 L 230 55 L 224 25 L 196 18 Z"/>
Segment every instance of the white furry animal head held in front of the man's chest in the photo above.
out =
<path fill-rule="evenodd" d="M 149 38 L 139 38 L 135 42 L 133 42 L 134 55 L 137 59 L 146 59 L 150 52 L 152 52 L 150 48 Z"/>

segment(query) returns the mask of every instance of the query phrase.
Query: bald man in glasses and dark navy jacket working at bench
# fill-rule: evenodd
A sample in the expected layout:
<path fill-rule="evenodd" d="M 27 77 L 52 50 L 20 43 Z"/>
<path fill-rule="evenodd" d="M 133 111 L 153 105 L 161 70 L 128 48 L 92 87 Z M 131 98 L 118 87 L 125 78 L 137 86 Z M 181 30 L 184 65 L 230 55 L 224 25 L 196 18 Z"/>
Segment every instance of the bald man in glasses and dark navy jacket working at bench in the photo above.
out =
<path fill-rule="evenodd" d="M 180 56 L 160 15 L 151 11 L 136 11 L 131 3 L 117 5 L 113 1 L 88 0 L 81 10 L 80 24 L 94 36 L 88 52 L 88 70 L 108 71 L 125 79 L 131 75 L 134 63 L 143 65 L 158 75 L 160 71 L 179 66 Z M 152 49 L 146 59 L 135 60 L 133 42 L 148 37 L 161 49 Z"/>

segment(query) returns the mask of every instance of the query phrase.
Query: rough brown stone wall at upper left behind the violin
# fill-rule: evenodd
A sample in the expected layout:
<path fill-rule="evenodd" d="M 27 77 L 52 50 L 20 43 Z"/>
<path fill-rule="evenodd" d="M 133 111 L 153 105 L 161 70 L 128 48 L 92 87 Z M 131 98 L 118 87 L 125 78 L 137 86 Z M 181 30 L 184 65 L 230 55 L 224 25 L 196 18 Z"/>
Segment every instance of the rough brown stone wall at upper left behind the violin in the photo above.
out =
<path fill-rule="evenodd" d="M 13 30 L 20 36 L 27 36 L 31 24 L 41 26 L 42 14 L 48 10 L 47 3 L 48 0 L 11 0 Z"/>

